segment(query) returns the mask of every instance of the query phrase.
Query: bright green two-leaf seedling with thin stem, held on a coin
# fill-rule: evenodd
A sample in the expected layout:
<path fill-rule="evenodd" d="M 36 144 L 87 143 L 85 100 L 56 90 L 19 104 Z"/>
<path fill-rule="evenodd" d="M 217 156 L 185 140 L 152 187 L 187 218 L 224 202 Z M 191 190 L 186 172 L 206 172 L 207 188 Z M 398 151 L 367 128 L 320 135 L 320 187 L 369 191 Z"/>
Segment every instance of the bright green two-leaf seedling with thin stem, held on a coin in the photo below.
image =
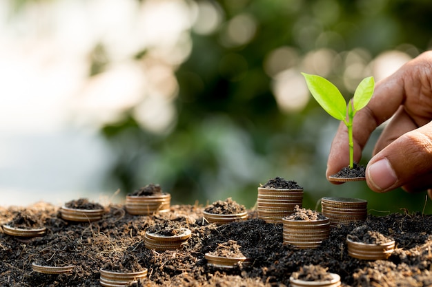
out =
<path fill-rule="evenodd" d="M 375 81 L 373 77 L 364 78 L 355 89 L 354 97 L 348 101 L 333 83 L 322 76 L 302 73 L 312 96 L 330 116 L 342 120 L 348 128 L 349 167 L 354 167 L 353 118 L 357 111 L 364 108 L 372 98 Z"/>

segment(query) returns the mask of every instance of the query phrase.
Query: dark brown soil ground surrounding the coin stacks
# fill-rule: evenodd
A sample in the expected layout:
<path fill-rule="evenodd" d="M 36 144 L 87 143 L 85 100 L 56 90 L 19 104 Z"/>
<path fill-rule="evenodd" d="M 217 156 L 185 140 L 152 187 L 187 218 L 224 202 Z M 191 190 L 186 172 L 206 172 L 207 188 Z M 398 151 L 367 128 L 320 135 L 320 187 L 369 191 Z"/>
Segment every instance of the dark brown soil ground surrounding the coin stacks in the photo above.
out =
<path fill-rule="evenodd" d="M 96 222 L 67 222 L 59 206 L 37 203 L 26 207 L 0 207 L 0 224 L 17 213 L 35 215 L 47 228 L 40 237 L 14 237 L 0 233 L 0 286 L 99 286 L 99 270 L 107 264 L 123 264 L 133 256 L 146 279 L 135 286 L 289 286 L 289 277 L 302 266 L 315 265 L 339 274 L 342 286 L 431 286 L 432 215 L 393 213 L 369 215 L 369 226 L 397 245 L 388 260 L 365 261 L 348 255 L 346 235 L 358 224 L 331 228 L 328 240 L 315 249 L 283 244 L 282 224 L 266 224 L 248 210 L 248 220 L 208 224 L 204 206 L 173 205 L 167 213 L 134 216 L 121 204 L 104 204 L 106 213 Z M 145 246 L 147 228 L 178 224 L 192 232 L 183 248 L 153 251 Z M 250 264 L 230 270 L 208 266 L 205 254 L 234 240 Z M 34 272 L 32 263 L 55 254 L 72 272 L 46 275 Z M 55 259 L 53 257 L 52 260 Z"/>

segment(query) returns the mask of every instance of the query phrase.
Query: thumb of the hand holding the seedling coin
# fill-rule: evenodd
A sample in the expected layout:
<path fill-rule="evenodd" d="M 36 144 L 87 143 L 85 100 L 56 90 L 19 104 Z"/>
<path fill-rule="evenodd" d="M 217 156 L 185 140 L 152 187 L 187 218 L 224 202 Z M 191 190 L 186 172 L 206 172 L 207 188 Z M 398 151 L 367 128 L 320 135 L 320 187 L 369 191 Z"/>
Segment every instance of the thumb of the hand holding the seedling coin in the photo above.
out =
<path fill-rule="evenodd" d="M 366 182 L 377 192 L 432 187 L 432 123 L 403 134 L 377 153 L 366 167 Z"/>

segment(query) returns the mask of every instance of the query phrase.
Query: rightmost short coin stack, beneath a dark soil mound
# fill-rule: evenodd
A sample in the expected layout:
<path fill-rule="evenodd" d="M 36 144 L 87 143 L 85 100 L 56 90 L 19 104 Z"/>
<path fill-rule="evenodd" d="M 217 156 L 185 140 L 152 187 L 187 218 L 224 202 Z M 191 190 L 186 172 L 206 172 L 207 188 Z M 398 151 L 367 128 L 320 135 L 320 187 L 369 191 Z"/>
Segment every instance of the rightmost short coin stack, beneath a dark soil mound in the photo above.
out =
<path fill-rule="evenodd" d="M 348 255 L 357 259 L 364 260 L 384 260 L 388 259 L 395 250 L 395 241 L 381 244 L 371 244 L 363 242 L 354 242 L 346 238 L 348 245 Z"/>

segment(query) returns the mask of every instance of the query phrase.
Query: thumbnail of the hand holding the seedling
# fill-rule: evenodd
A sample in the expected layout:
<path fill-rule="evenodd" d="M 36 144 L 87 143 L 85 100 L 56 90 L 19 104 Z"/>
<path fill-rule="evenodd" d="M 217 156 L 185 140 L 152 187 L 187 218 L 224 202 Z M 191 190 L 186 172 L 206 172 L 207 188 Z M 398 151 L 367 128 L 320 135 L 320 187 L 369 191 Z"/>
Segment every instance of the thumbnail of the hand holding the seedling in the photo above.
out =
<path fill-rule="evenodd" d="M 380 191 L 386 191 L 397 181 L 396 173 L 386 158 L 374 162 L 369 167 L 368 178 L 371 184 Z"/>

